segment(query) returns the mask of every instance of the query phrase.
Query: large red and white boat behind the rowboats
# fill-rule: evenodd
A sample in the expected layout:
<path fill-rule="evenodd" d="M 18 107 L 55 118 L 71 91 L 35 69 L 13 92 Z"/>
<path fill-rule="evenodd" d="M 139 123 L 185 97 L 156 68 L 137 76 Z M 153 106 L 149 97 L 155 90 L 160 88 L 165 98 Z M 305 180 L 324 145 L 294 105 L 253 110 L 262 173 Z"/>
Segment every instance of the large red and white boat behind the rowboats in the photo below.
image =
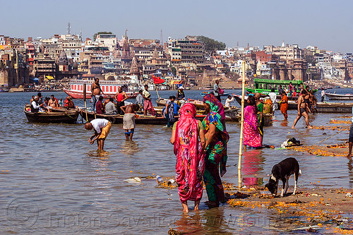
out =
<path fill-rule="evenodd" d="M 73 99 L 83 99 L 83 84 L 86 85 L 86 99 L 90 99 L 92 92 L 90 92 L 93 80 L 71 80 L 70 88 L 64 89 L 67 95 Z M 100 88 L 103 91 L 103 97 L 114 97 L 118 88 L 121 87 L 128 98 L 136 98 L 138 92 L 133 92 L 128 88 L 128 85 L 123 81 L 118 80 L 100 80 Z"/>

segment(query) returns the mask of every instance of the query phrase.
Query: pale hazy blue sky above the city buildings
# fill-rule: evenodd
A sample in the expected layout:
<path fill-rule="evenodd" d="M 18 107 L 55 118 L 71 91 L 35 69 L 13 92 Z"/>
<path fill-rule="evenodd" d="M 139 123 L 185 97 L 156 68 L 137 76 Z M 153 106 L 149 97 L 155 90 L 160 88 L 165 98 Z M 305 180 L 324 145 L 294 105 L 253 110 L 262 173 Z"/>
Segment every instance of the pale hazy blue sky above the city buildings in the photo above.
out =
<path fill-rule="evenodd" d="M 204 35 L 227 47 L 280 45 L 282 41 L 333 52 L 353 52 L 353 1 L 0 0 L 0 35 L 83 38 L 112 31 L 119 38 L 160 39 Z"/>

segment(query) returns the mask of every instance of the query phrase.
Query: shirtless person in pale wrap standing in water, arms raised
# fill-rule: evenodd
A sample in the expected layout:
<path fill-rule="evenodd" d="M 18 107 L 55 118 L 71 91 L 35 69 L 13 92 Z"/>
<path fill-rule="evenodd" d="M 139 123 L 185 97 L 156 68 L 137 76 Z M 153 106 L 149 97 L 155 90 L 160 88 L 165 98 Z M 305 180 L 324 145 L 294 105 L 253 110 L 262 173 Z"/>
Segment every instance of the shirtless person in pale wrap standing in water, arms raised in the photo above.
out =
<path fill-rule="evenodd" d="M 128 104 L 120 107 L 121 111 L 124 112 L 123 128 L 125 130 L 126 140 L 132 140 L 133 132 L 135 131 L 135 114 L 138 111 L 137 104 Z"/>

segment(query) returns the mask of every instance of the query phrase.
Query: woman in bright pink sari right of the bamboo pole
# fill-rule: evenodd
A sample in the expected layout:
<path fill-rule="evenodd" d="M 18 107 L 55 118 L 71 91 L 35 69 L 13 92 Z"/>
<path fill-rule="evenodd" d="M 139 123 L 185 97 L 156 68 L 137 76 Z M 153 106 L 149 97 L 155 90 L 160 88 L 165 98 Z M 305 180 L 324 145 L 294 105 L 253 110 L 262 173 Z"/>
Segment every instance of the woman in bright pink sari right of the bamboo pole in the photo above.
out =
<path fill-rule="evenodd" d="M 249 96 L 248 105 L 244 109 L 244 129 L 243 129 L 243 145 L 250 147 L 261 147 L 261 134 L 258 131 L 258 116 L 256 110 L 256 102 L 253 96 Z"/>

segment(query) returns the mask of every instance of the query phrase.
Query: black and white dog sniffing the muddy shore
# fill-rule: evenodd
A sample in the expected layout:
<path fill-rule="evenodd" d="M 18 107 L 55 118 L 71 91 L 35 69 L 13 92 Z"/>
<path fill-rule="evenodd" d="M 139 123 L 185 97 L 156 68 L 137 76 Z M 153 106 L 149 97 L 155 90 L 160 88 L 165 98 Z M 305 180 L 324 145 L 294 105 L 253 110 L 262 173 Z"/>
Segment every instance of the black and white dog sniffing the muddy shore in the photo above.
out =
<path fill-rule="evenodd" d="M 268 191 L 276 196 L 278 181 L 282 180 L 283 186 L 281 197 L 283 197 L 283 195 L 287 193 L 289 187 L 289 176 L 292 174 L 294 174 L 295 185 L 293 195 L 295 195 L 295 192 L 297 191 L 298 176 L 301 174 L 301 170 L 299 169 L 299 163 L 297 162 L 297 159 L 294 157 L 288 157 L 282 162 L 273 166 L 270 179 L 268 180 L 268 183 L 265 184 L 265 188 L 268 188 Z"/>

